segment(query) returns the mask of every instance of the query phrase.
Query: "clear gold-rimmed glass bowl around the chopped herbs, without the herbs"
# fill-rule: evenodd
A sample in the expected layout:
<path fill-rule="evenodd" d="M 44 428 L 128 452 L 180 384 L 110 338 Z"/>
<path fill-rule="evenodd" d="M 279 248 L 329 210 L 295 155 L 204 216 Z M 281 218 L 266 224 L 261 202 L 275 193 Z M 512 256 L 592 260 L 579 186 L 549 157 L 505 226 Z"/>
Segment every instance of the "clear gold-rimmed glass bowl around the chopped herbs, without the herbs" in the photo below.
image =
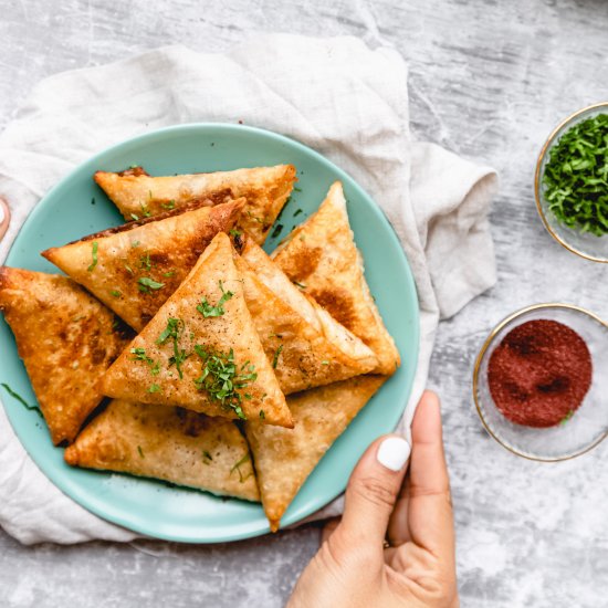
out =
<path fill-rule="evenodd" d="M 549 160 L 548 153 L 554 144 L 556 144 L 562 135 L 575 124 L 596 116 L 597 114 L 608 114 L 608 102 L 594 104 L 575 112 L 573 115 L 563 120 L 548 136 L 536 163 L 534 193 L 536 197 L 536 208 L 538 209 L 538 214 L 541 216 L 545 228 L 560 245 L 587 260 L 607 263 L 608 234 L 605 234 L 604 237 L 596 237 L 595 234 L 581 233 L 560 223 L 548 208 L 548 203 L 544 195 L 545 186 L 543 185 L 545 165 Z"/>

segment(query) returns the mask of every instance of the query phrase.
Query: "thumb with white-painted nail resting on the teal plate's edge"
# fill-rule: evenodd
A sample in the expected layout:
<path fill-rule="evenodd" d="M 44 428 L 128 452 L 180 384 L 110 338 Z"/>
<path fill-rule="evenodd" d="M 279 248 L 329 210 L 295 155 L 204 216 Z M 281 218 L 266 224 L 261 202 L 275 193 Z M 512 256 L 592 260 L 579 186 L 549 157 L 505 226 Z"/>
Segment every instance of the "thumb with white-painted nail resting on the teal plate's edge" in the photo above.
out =
<path fill-rule="evenodd" d="M 336 531 L 343 543 L 382 548 L 409 454 L 409 443 L 396 434 L 377 439 L 366 450 L 346 488 L 344 515 Z"/>

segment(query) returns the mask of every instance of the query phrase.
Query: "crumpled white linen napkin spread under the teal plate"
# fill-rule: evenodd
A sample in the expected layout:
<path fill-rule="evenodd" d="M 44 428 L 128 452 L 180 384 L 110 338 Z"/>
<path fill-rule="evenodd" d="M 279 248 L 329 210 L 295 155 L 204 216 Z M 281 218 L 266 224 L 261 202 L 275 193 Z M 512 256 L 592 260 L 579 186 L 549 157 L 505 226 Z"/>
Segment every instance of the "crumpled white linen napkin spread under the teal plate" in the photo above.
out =
<path fill-rule="evenodd" d="M 289 135 L 348 171 L 385 210 L 411 264 L 421 348 L 409 424 L 427 380 L 440 317 L 495 282 L 488 210 L 496 176 L 411 140 L 407 67 L 391 49 L 355 38 L 254 38 L 226 54 L 168 46 L 42 81 L 0 134 L 0 195 L 12 223 L 0 262 L 28 213 L 60 178 L 106 146 L 167 125 L 242 120 Z M 339 501 L 322 513 L 333 514 Z M 0 408 L 0 525 L 21 543 L 129 541 L 92 515 L 30 460 Z"/>

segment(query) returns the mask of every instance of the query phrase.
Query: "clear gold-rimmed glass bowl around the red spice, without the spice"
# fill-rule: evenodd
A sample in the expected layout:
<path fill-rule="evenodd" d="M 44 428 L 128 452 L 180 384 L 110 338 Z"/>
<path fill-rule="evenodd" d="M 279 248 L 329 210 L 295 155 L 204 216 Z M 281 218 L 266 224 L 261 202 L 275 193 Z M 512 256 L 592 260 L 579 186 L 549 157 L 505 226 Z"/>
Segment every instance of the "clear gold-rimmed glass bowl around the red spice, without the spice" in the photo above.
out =
<path fill-rule="evenodd" d="M 556 427 L 515 424 L 497 409 L 488 385 L 488 364 L 494 348 L 514 327 L 532 319 L 557 321 L 587 343 L 594 374 L 589 391 L 574 416 Z M 608 325 L 570 304 L 536 304 L 513 313 L 490 333 L 473 371 L 473 398 L 486 431 L 509 451 L 530 460 L 555 462 L 584 454 L 608 434 Z"/>

